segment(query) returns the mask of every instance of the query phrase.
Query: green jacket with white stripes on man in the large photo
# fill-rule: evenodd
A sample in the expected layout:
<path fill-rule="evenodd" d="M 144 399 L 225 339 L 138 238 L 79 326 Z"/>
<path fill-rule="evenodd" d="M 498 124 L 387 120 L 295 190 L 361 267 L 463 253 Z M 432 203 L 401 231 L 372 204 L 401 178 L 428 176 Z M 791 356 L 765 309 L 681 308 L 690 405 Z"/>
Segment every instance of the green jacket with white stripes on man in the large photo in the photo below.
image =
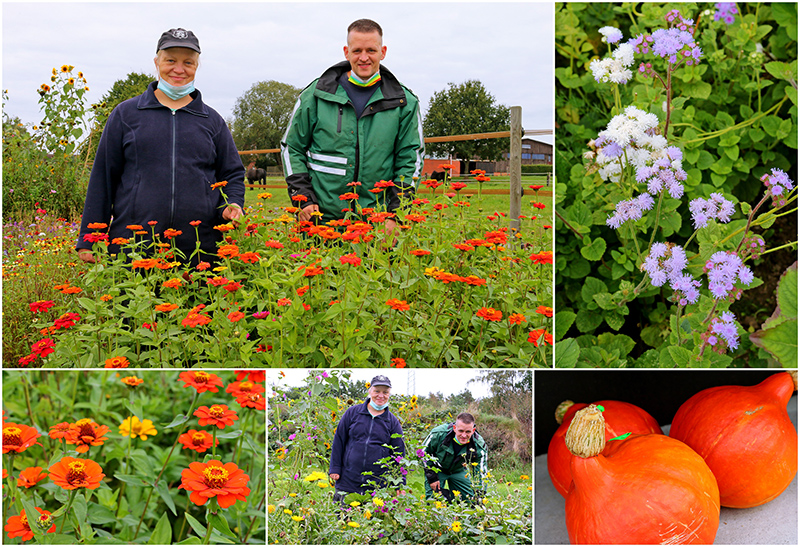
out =
<path fill-rule="evenodd" d="M 339 77 L 350 70 L 341 62 L 326 70 L 300 94 L 286 134 L 281 158 L 290 197 L 298 194 L 316 203 L 322 220 L 344 218 L 347 201 L 339 196 L 356 192 L 361 207 L 393 211 L 398 191 L 414 189 L 423 167 L 419 100 L 385 67 L 381 86 L 370 98 L 361 118 L 356 117 Z M 391 180 L 397 188 L 369 192 L 375 183 Z M 348 187 L 349 182 L 361 186 Z M 376 196 L 378 196 L 376 198 Z"/>

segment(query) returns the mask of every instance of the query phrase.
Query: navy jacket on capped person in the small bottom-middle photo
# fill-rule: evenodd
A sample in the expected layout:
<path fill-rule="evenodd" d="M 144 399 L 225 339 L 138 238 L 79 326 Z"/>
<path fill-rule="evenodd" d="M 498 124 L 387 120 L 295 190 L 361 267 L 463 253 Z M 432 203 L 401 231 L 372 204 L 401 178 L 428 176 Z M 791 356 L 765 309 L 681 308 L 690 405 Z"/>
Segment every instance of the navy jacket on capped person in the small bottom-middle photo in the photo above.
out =
<path fill-rule="evenodd" d="M 339 475 L 337 492 L 363 494 L 370 489 L 366 484 L 369 480 L 382 485 L 381 475 L 385 469 L 376 462 L 386 456 L 406 453 L 403 438 L 392 438 L 395 433 L 403 434 L 400 421 L 388 410 L 373 416 L 367 409 L 369 401 L 367 398 L 363 404 L 348 408 L 336 426 L 329 473 Z M 392 448 L 382 446 L 384 444 Z M 363 475 L 364 471 L 371 471 L 372 475 Z"/>

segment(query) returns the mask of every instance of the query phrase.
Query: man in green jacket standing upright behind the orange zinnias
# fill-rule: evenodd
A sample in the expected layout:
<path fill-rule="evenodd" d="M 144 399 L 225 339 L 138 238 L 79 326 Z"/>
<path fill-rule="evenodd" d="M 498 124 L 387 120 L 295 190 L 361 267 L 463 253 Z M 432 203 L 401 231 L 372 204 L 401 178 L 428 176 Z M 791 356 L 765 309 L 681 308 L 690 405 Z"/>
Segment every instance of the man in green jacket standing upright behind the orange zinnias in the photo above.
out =
<path fill-rule="evenodd" d="M 347 29 L 347 59 L 326 70 L 300 94 L 281 158 L 298 219 L 322 222 L 348 210 L 373 207 L 393 212 L 399 194 L 414 191 L 425 152 L 417 97 L 381 66 L 383 30 L 359 19 Z M 383 189 L 380 181 L 394 186 Z M 360 183 L 360 184 L 355 184 Z M 371 192 L 371 190 L 376 190 Z M 353 197 L 341 198 L 345 194 Z M 387 238 L 396 227 L 385 221 Z"/>

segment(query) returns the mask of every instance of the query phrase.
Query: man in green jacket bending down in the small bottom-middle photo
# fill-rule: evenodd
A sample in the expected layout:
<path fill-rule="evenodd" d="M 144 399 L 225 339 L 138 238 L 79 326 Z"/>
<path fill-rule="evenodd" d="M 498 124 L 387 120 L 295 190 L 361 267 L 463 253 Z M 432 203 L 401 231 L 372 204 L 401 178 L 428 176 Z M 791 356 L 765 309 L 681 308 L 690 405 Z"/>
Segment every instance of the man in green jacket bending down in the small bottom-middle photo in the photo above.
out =
<path fill-rule="evenodd" d="M 462 412 L 455 423 L 434 427 L 423 443 L 425 449 L 425 496 L 441 492 L 447 501 L 474 499 L 483 489 L 488 472 L 488 451 L 475 429 L 472 414 Z M 436 458 L 432 461 L 432 458 Z"/>

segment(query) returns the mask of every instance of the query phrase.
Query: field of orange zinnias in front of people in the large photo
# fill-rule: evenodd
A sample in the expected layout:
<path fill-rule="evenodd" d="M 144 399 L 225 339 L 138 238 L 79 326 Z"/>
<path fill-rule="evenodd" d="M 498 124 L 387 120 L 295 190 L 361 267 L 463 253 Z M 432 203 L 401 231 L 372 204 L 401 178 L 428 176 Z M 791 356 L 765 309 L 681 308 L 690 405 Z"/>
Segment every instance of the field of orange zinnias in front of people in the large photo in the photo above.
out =
<path fill-rule="evenodd" d="M 64 254 L 73 223 L 41 211 L 7 225 L 6 366 L 550 366 L 549 193 L 526 188 L 515 232 L 506 213 L 462 196 L 466 183 L 445 184 L 397 211 L 392 241 L 385 211 L 314 225 L 296 220 L 301 203 L 271 206 L 261 193 L 241 225 L 215 227 L 217 263 L 196 268 L 171 246 L 193 226 L 131 226 L 116 241 L 126 262 L 106 252 L 97 224 L 99 260 L 84 266 Z M 354 207 L 351 194 L 343 206 Z M 52 252 L 58 268 L 32 275 Z"/>

